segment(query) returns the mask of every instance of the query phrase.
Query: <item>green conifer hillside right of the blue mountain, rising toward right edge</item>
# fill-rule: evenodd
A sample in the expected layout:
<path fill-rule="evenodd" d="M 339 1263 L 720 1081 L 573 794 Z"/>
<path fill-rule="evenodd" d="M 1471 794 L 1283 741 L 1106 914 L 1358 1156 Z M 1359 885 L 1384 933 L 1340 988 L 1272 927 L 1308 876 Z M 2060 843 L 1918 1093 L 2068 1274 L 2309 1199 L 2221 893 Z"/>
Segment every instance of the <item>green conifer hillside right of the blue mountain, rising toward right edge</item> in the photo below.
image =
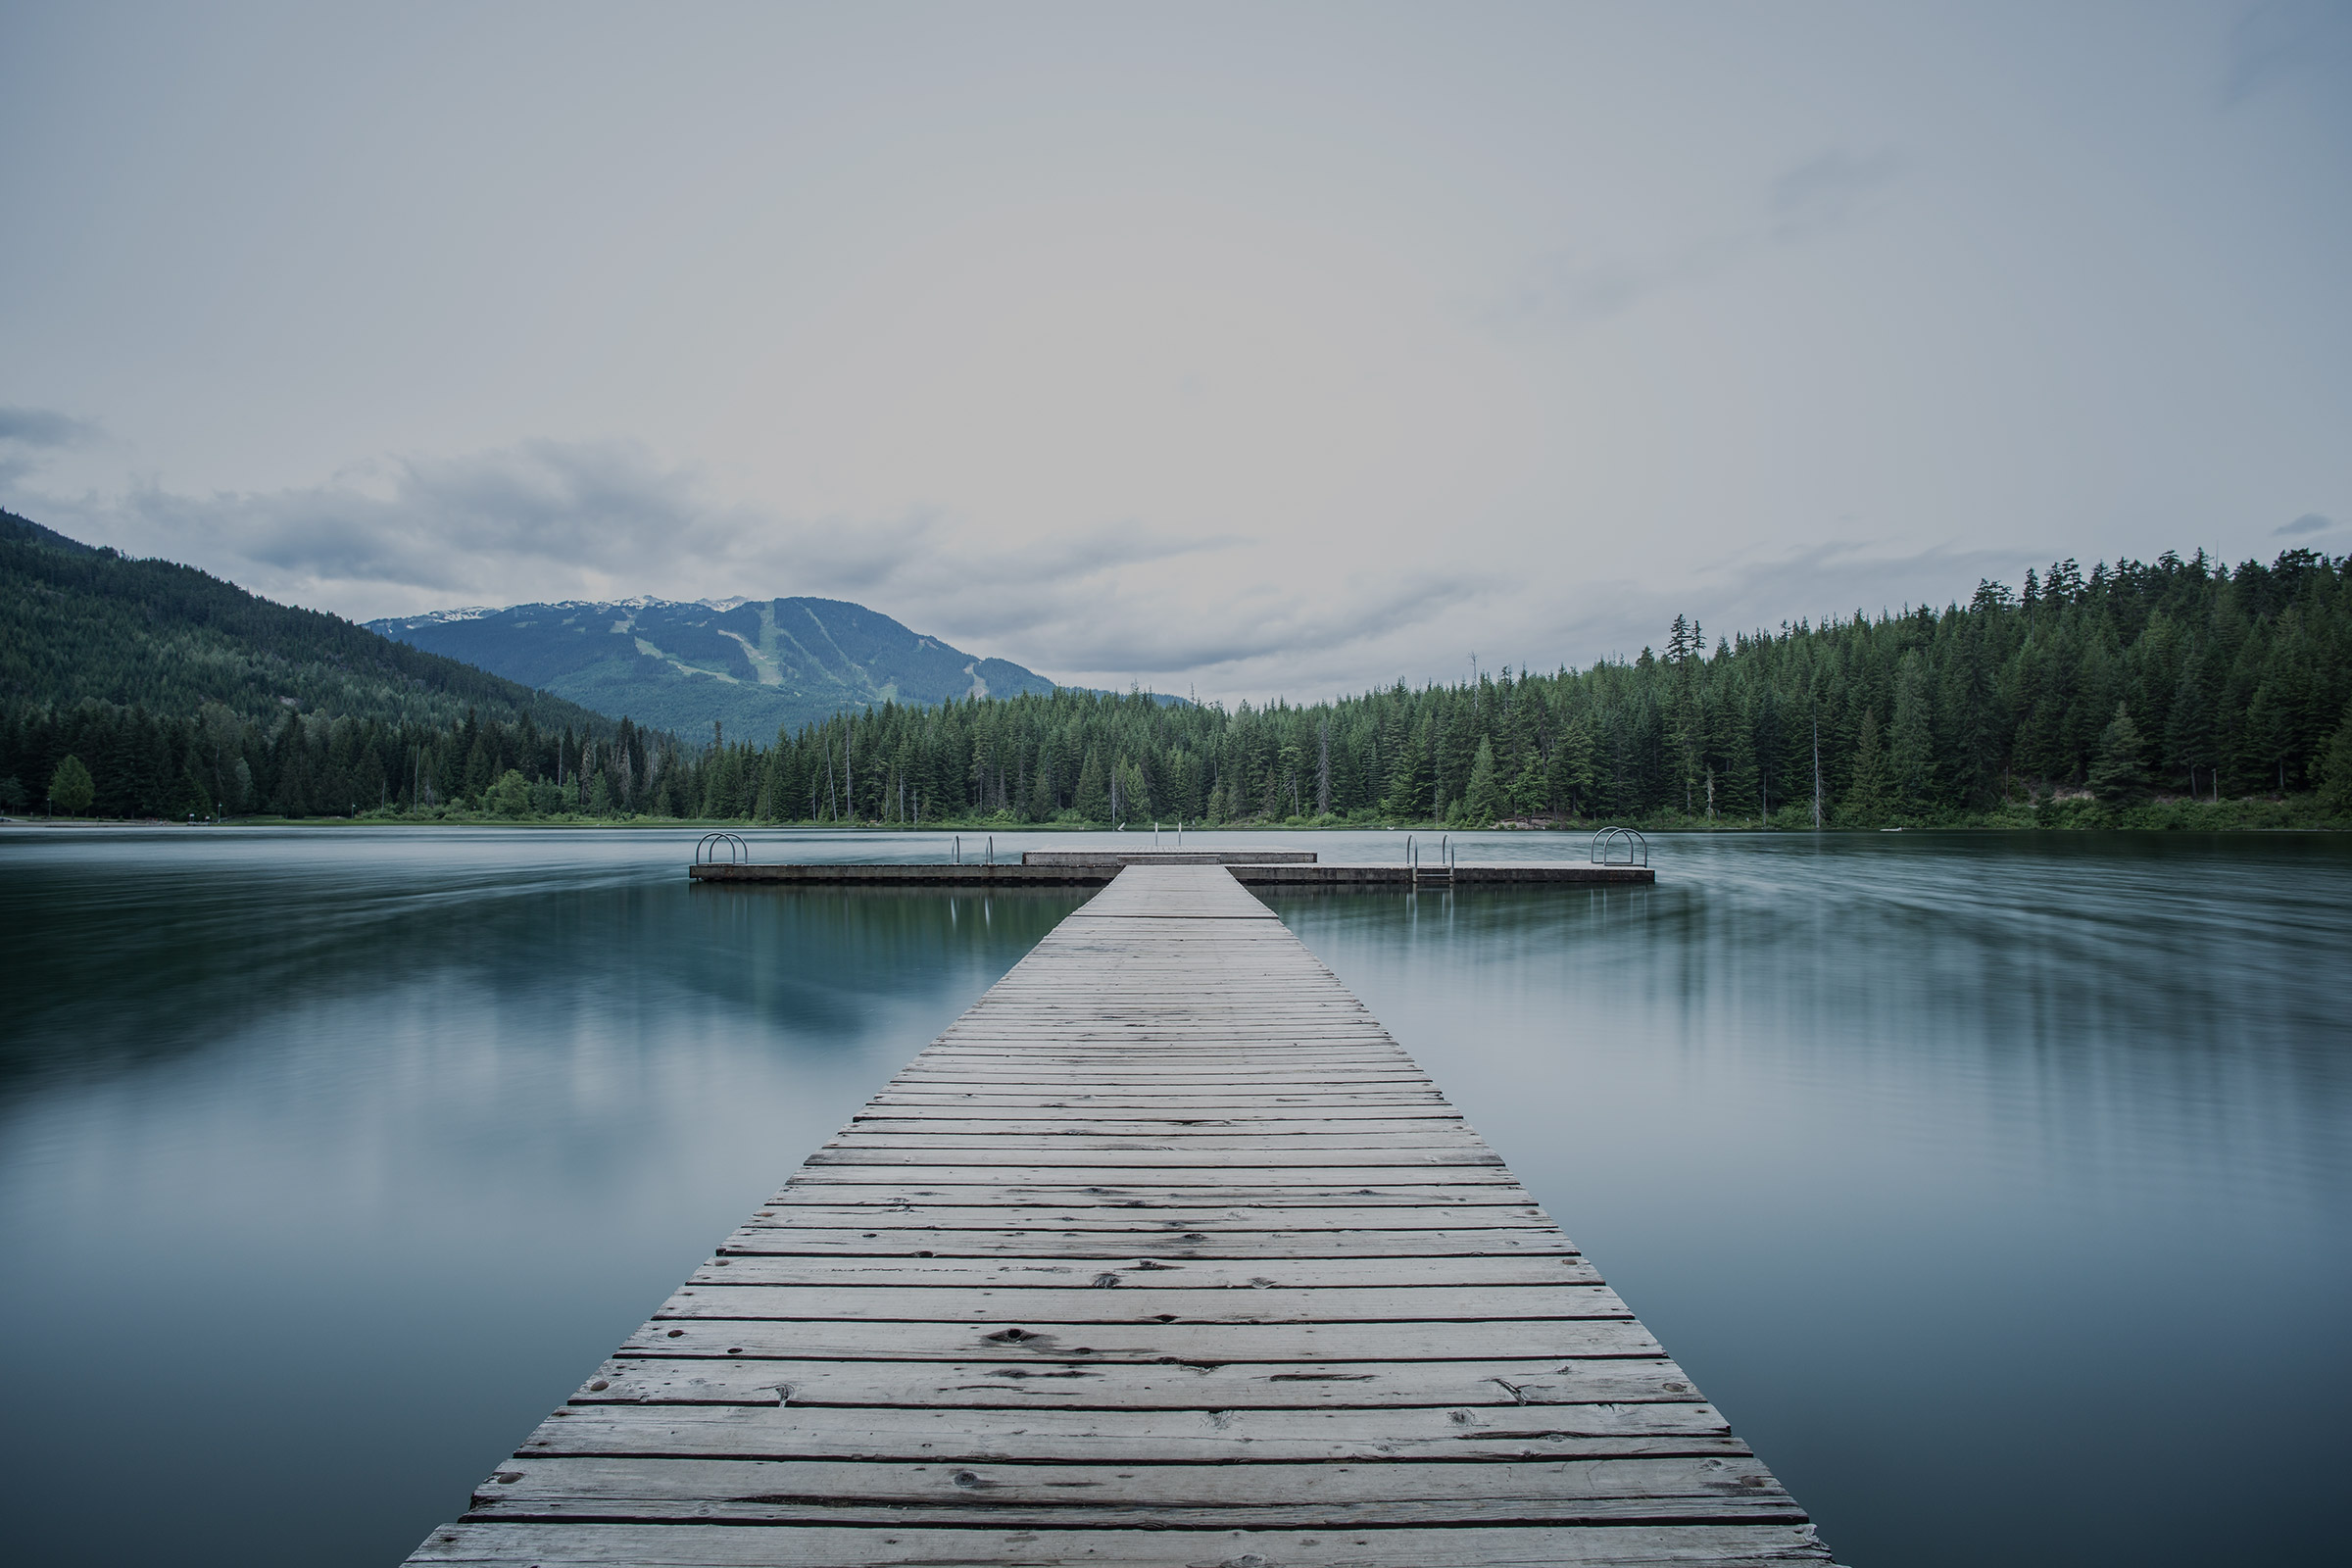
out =
<path fill-rule="evenodd" d="M 696 771 L 710 816 L 1482 825 L 2034 820 L 2352 788 L 2345 559 L 2058 562 L 1966 607 L 1717 639 L 1331 705 L 1021 698 L 835 719 Z M 2326 766 L 2321 766 L 2326 764 Z M 854 797 L 842 778 L 854 778 Z M 1816 785 L 1818 780 L 1818 785 Z M 684 783 L 684 780 L 682 780 Z M 854 799 L 854 804 L 851 804 Z M 908 813 L 913 809 L 908 806 Z M 2082 820 L 2100 820 L 2093 811 Z"/>

